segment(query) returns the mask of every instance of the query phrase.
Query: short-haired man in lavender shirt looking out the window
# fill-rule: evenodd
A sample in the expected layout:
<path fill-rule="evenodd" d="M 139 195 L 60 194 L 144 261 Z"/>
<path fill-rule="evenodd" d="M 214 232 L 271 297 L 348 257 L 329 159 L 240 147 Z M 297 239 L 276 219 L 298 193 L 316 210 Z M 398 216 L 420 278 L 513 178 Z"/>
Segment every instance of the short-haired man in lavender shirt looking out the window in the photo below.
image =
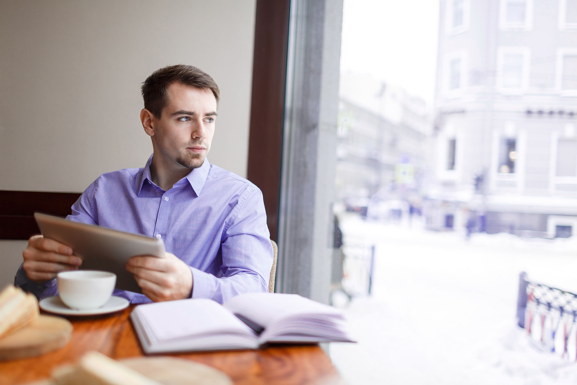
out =
<path fill-rule="evenodd" d="M 202 70 L 175 65 L 142 86 L 140 120 L 153 154 L 143 169 L 100 175 L 72 206 L 70 220 L 162 238 L 165 258 L 138 256 L 126 269 L 143 294 L 130 302 L 211 298 L 268 290 L 272 266 L 263 196 L 249 181 L 206 158 L 219 88 Z M 33 236 L 14 284 L 39 298 L 57 295 L 58 272 L 82 261 L 68 246 Z"/>

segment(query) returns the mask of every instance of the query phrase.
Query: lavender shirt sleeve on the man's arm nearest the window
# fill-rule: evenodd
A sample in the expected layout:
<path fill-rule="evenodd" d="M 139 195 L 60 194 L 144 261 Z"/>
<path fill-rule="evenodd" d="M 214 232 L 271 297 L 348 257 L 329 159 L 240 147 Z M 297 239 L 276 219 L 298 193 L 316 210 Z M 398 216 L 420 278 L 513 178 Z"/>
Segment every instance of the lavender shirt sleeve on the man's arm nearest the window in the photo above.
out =
<path fill-rule="evenodd" d="M 192 298 L 210 298 L 222 304 L 238 294 L 268 291 L 272 244 L 260 189 L 252 186 L 239 198 L 225 223 L 220 246 L 222 276 L 191 267 Z"/>

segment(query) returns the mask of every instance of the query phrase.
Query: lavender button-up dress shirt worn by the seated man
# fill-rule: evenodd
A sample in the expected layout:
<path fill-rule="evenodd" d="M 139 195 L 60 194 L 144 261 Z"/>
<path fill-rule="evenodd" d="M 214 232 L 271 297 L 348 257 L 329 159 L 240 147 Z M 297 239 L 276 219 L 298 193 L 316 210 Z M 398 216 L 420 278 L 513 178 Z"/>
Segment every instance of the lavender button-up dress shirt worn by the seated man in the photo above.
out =
<path fill-rule="evenodd" d="M 272 245 L 260 189 L 205 159 L 164 191 L 152 182 L 151 162 L 152 156 L 143 169 L 100 175 L 66 219 L 162 238 L 166 251 L 190 266 L 192 298 L 223 303 L 237 294 L 268 291 Z M 58 295 L 56 279 L 32 282 L 21 266 L 14 285 L 39 298 Z M 114 295 L 151 302 L 132 291 Z"/>

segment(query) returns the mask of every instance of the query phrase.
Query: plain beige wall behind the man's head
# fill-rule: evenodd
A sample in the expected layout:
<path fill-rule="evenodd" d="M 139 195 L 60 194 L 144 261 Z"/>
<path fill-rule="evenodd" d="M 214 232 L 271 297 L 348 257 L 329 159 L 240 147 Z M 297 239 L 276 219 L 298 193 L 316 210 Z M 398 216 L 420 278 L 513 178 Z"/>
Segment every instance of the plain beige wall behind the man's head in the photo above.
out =
<path fill-rule="evenodd" d="M 140 84 L 177 63 L 219 84 L 208 158 L 245 176 L 254 8 L 255 0 L 0 1 L 0 189 L 80 192 L 102 173 L 144 166 L 152 145 L 138 118 Z M 7 245 L 0 241 L 2 267 Z"/>

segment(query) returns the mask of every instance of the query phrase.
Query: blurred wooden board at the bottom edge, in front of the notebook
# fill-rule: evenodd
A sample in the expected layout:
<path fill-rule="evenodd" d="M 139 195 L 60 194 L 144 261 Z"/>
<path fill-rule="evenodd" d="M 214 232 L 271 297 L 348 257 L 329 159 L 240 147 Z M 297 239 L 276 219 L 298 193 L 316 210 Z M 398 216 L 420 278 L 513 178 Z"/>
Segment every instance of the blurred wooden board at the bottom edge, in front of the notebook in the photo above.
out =
<path fill-rule="evenodd" d="M 120 362 L 163 385 L 233 385 L 223 372 L 184 358 L 137 357 Z"/>

